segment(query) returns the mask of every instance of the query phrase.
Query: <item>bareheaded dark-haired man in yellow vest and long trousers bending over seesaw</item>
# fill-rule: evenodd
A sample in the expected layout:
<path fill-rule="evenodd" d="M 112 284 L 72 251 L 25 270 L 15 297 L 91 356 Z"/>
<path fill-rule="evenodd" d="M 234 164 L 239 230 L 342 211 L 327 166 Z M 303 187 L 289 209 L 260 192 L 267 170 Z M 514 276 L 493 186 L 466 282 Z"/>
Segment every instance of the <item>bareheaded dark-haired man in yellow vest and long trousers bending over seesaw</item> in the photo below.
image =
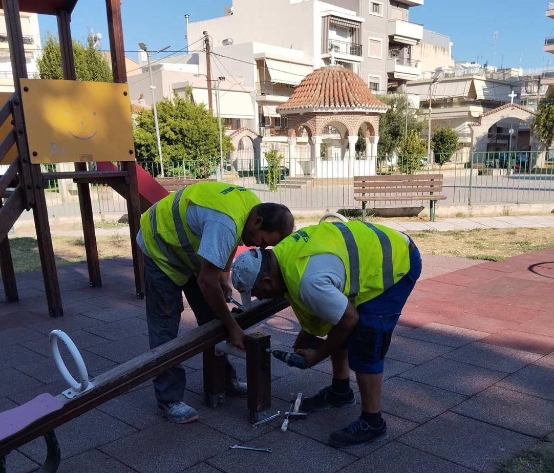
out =
<path fill-rule="evenodd" d="M 229 343 L 244 348 L 244 332 L 229 311 L 229 268 L 237 245 L 273 246 L 294 228 L 285 205 L 261 203 L 249 189 L 220 182 L 192 184 L 170 194 L 141 217 L 137 243 L 144 253 L 146 319 L 150 348 L 177 337 L 183 292 L 198 325 L 219 318 Z M 186 387 L 180 365 L 153 381 L 158 413 L 177 423 L 198 419 L 183 402 Z M 245 395 L 227 360 L 227 393 Z"/>

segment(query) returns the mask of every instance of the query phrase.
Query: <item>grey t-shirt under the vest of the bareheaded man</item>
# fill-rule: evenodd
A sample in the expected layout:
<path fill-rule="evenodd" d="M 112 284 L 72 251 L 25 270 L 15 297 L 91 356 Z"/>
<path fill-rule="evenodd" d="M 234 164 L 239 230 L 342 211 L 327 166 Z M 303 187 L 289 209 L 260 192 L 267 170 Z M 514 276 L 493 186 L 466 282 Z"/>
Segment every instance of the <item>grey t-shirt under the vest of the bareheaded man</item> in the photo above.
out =
<path fill-rule="evenodd" d="M 217 210 L 189 204 L 187 224 L 192 234 L 200 239 L 198 255 L 219 269 L 225 269 L 237 242 L 237 225 L 233 219 Z M 137 234 L 137 244 L 149 256 L 142 231 Z"/>

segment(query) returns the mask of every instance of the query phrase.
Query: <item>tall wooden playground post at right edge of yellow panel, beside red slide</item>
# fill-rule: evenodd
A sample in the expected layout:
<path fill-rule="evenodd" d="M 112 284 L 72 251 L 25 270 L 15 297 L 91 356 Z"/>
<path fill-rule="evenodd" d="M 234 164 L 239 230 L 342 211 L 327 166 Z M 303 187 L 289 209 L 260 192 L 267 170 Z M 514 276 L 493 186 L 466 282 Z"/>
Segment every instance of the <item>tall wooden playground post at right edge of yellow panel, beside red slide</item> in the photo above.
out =
<path fill-rule="evenodd" d="M 125 48 L 123 43 L 123 27 L 121 23 L 121 0 L 106 0 L 107 29 L 110 37 L 111 64 L 114 82 L 127 83 L 125 69 Z M 129 150 L 133 154 L 134 150 Z M 139 184 L 135 161 L 121 161 L 121 169 L 129 173 L 127 183 L 127 215 L 131 234 L 131 254 L 135 269 L 135 286 L 137 299 L 144 298 L 144 262 L 142 252 L 136 243 L 136 236 L 140 229 L 140 198 Z"/>

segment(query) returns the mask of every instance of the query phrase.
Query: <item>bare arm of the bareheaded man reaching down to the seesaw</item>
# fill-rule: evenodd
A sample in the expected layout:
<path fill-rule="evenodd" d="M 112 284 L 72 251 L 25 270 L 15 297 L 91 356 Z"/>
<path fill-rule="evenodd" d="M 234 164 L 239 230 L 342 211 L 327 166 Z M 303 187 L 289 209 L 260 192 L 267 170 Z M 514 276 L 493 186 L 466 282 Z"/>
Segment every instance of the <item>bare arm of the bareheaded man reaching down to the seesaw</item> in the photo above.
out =
<path fill-rule="evenodd" d="M 198 274 L 198 286 L 202 291 L 204 300 L 223 322 L 229 331 L 229 343 L 238 348 L 244 349 L 244 331 L 239 327 L 237 321 L 231 315 L 225 294 L 220 284 L 220 277 L 223 270 L 207 260 L 202 260 L 200 273 Z"/>

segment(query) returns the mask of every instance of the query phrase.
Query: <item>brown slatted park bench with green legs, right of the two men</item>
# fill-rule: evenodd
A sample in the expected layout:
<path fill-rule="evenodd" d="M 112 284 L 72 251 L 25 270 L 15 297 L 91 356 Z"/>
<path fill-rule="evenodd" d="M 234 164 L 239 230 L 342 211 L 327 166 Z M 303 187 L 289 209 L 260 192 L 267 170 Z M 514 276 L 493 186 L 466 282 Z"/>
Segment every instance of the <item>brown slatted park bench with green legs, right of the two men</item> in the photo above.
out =
<path fill-rule="evenodd" d="M 442 174 L 397 174 L 396 176 L 354 177 L 354 200 L 362 203 L 362 219 L 366 219 L 367 202 L 429 200 L 429 218 L 435 221 L 435 204 L 446 196 Z"/>

